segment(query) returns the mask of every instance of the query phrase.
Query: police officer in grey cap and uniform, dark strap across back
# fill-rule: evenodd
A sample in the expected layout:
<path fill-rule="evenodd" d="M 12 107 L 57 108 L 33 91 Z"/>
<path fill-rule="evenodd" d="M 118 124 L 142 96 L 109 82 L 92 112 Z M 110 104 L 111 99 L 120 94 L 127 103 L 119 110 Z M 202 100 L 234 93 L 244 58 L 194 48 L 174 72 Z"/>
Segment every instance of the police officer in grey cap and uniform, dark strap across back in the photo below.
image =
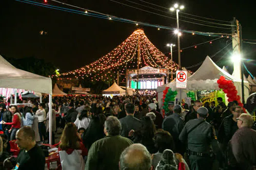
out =
<path fill-rule="evenodd" d="M 207 116 L 207 108 L 198 108 L 197 119 L 189 120 L 179 135 L 181 142 L 187 141 L 192 170 L 210 170 L 213 165 L 211 141 L 214 136 L 212 125 L 205 121 Z"/>

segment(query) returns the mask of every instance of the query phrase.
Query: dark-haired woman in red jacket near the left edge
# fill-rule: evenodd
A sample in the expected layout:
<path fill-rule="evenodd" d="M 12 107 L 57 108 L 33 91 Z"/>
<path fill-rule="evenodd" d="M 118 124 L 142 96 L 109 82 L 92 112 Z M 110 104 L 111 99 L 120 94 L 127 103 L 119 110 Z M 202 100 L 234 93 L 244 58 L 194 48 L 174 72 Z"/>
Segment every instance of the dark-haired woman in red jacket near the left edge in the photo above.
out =
<path fill-rule="evenodd" d="M 9 130 L 9 133 L 11 133 L 10 140 L 14 140 L 16 139 L 15 137 L 16 132 L 20 129 L 22 120 L 21 120 L 21 113 L 16 105 L 10 106 L 10 111 L 13 115 L 12 122 L 7 123 L 2 121 L 2 124 L 12 125 L 11 129 Z"/>

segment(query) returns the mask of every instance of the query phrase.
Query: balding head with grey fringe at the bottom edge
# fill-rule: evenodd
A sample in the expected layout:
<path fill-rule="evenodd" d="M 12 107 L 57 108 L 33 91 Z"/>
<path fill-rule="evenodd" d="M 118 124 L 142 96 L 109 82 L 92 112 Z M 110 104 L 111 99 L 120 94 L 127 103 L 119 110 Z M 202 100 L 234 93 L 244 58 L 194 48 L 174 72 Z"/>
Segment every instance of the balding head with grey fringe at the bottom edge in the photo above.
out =
<path fill-rule="evenodd" d="M 120 155 L 120 170 L 150 170 L 151 156 L 141 144 L 132 144 Z"/>

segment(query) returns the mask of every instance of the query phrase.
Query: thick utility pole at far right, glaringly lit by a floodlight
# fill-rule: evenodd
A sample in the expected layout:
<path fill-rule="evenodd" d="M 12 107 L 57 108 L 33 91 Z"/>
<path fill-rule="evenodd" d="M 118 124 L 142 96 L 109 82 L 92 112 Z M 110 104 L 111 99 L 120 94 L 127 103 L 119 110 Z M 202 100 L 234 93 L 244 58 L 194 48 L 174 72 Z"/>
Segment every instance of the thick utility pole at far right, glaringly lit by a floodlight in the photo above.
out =
<path fill-rule="evenodd" d="M 242 103 L 245 103 L 244 100 L 244 76 L 243 76 L 243 56 L 242 56 L 242 27 L 239 24 L 239 21 L 234 17 L 232 21 L 232 46 L 233 46 L 233 55 L 237 55 L 240 57 L 240 60 L 234 61 L 234 71 L 233 76 L 241 80 L 241 90 Z"/>

